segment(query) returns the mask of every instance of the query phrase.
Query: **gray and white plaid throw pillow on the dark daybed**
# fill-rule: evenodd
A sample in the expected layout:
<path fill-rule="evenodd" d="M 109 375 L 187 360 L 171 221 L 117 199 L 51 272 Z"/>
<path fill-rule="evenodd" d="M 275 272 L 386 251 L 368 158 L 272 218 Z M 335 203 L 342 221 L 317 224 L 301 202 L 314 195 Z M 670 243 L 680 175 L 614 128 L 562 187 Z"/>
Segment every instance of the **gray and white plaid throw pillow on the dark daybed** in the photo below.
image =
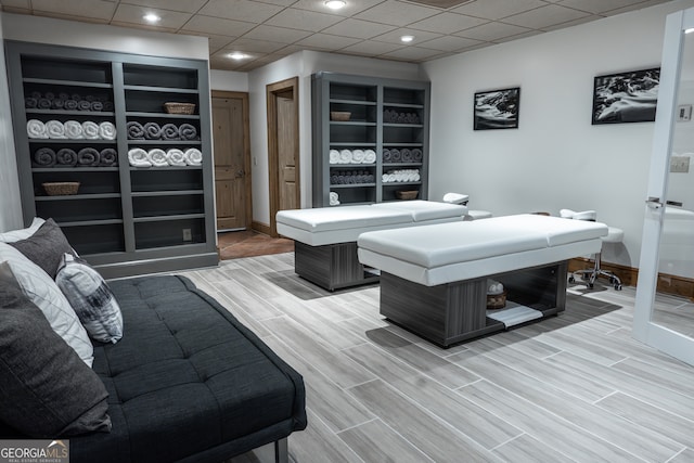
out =
<path fill-rule="evenodd" d="M 65 253 L 55 283 L 92 338 L 117 343 L 123 337 L 120 307 L 104 279 L 89 263 Z"/>

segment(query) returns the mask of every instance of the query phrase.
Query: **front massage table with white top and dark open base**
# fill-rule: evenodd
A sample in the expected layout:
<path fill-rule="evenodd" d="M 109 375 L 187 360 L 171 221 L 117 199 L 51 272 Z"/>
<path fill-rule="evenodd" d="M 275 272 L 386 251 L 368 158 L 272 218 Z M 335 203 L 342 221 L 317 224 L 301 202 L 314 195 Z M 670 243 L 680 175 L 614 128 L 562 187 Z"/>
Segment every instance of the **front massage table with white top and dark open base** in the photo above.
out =
<path fill-rule="evenodd" d="M 540 215 L 359 235 L 358 258 L 381 270 L 381 314 L 439 345 L 563 311 L 568 260 L 600 252 L 607 226 Z M 488 279 L 506 291 L 487 310 Z"/>

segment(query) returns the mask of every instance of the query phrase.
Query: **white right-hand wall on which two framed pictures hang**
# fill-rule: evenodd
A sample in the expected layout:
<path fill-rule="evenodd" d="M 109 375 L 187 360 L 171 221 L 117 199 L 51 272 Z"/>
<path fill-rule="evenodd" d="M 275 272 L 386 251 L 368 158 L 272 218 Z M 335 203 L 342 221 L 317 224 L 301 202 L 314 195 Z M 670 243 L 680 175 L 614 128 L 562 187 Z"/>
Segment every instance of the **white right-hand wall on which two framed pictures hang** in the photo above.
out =
<path fill-rule="evenodd" d="M 429 198 L 494 215 L 595 209 L 625 230 L 606 261 L 639 265 L 653 123 L 591 125 L 593 77 L 660 65 L 680 0 L 423 65 L 432 80 Z M 519 128 L 474 131 L 476 91 L 520 87 Z"/>

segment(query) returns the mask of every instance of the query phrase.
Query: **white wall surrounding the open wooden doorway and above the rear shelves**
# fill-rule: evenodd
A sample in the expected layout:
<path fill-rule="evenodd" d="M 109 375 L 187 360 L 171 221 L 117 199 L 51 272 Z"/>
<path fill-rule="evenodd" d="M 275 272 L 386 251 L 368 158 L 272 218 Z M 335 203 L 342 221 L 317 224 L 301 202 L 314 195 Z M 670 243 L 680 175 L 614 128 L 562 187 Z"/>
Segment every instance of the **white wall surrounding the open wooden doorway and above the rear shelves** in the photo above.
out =
<path fill-rule="evenodd" d="M 311 207 L 311 75 L 326 70 L 362 76 L 419 79 L 420 66 L 359 56 L 300 51 L 248 74 L 253 219 L 270 223 L 266 86 L 299 78 L 299 181 L 301 207 Z"/>

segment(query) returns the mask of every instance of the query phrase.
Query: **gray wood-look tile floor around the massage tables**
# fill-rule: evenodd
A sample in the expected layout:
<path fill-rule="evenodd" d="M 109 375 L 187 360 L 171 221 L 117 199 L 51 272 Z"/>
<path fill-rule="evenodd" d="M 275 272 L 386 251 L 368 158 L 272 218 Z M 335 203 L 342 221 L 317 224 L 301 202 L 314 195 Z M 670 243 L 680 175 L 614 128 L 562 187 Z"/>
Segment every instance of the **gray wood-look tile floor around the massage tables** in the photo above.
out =
<path fill-rule="evenodd" d="M 329 293 L 292 253 L 182 274 L 304 375 L 297 462 L 694 462 L 694 368 L 631 337 L 632 287 L 440 349 L 378 314 L 377 285 Z"/>

